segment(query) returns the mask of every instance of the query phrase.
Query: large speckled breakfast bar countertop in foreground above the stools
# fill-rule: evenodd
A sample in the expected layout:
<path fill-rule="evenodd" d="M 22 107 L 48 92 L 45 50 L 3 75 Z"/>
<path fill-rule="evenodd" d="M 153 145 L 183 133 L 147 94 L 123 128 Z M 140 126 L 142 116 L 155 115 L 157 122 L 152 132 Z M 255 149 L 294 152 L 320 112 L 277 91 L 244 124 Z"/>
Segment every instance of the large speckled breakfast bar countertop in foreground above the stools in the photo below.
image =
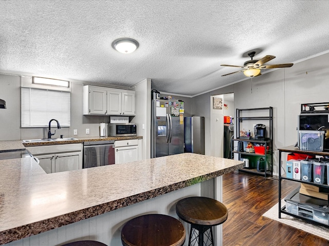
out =
<path fill-rule="evenodd" d="M 0 165 L 4 244 L 233 172 L 243 162 L 184 153 L 51 174 L 30 157 Z"/>

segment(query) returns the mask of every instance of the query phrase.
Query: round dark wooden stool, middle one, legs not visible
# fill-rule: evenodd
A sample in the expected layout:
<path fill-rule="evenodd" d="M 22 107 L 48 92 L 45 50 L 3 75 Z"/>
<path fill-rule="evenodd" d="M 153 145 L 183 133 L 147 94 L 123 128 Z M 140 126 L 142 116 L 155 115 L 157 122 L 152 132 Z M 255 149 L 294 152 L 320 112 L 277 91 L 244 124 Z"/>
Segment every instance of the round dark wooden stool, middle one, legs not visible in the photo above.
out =
<path fill-rule="evenodd" d="M 180 246 L 185 229 L 178 219 L 163 214 L 147 214 L 126 222 L 121 231 L 124 246 Z"/>

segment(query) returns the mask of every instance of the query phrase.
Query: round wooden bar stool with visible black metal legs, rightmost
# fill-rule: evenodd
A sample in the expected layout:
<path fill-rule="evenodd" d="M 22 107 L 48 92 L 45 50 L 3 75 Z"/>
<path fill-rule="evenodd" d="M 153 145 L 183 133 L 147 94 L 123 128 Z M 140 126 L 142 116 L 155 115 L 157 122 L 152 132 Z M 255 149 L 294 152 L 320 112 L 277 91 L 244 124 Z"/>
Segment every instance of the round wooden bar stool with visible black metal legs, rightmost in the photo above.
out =
<path fill-rule="evenodd" d="M 226 221 L 228 210 L 222 202 L 195 196 L 179 200 L 176 213 L 179 218 L 191 224 L 189 246 L 191 243 L 194 245 L 196 241 L 199 246 L 208 243 L 214 246 L 212 227 Z"/>

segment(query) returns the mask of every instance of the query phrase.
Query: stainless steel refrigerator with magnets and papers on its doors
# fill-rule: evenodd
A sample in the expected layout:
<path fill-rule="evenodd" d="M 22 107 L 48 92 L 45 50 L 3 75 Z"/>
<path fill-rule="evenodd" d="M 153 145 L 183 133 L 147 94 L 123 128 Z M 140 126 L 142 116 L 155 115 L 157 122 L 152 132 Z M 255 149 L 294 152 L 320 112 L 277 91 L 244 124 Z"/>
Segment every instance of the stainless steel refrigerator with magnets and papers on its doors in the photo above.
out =
<path fill-rule="evenodd" d="M 184 101 L 152 100 L 151 158 L 184 153 Z"/>

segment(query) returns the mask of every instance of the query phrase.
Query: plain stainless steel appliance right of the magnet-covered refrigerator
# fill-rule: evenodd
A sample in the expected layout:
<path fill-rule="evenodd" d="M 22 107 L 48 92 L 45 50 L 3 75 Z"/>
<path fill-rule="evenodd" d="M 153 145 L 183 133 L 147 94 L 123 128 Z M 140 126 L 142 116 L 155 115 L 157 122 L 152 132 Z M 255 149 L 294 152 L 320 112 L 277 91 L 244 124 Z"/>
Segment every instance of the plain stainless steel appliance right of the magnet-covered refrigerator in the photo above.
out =
<path fill-rule="evenodd" d="M 205 154 L 205 117 L 184 117 L 185 152 Z"/>

